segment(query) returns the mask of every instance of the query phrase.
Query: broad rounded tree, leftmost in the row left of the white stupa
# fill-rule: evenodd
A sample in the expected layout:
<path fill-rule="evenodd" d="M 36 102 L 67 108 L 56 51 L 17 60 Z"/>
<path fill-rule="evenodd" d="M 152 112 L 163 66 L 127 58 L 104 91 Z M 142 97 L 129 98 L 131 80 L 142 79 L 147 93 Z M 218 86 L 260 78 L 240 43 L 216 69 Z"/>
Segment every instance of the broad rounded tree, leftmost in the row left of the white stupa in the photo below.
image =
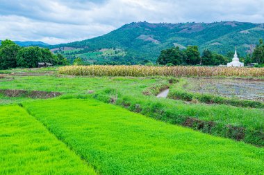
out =
<path fill-rule="evenodd" d="M 184 51 L 180 50 L 179 47 L 168 48 L 161 50 L 160 56 L 157 59 L 157 64 L 168 64 L 181 65 L 186 64 L 186 54 Z"/>

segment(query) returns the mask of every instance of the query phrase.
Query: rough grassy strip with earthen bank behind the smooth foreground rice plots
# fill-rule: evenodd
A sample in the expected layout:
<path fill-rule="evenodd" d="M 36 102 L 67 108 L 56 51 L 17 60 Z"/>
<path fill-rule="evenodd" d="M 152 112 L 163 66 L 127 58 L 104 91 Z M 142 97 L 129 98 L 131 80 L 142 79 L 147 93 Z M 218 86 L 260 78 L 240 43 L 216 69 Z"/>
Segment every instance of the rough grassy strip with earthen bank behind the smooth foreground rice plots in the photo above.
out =
<path fill-rule="evenodd" d="M 185 125 L 189 118 L 206 122 L 205 127 L 197 123 L 191 126 L 215 136 L 244 140 L 263 146 L 264 111 L 231 107 L 224 104 L 185 104 L 181 100 L 160 99 L 154 95 L 143 95 L 145 91 L 156 93 L 159 87 L 170 86 L 171 77 L 14 77 L 12 81 L 3 81 L 0 89 L 24 89 L 28 91 L 58 91 L 60 98 L 96 98 L 111 102 L 145 116 Z M 155 87 L 153 89 L 153 87 Z M 152 92 L 153 93 L 153 92 Z M 1 98 L 0 102 L 24 102 L 23 98 Z M 200 121 L 199 121 L 200 122 Z M 216 123 L 217 127 L 207 127 L 207 123 Z M 185 125 L 186 126 L 186 125 Z M 231 126 L 231 127 L 229 127 Z M 242 130 L 242 131 L 237 131 Z M 242 136 L 240 136 L 242 135 Z"/>

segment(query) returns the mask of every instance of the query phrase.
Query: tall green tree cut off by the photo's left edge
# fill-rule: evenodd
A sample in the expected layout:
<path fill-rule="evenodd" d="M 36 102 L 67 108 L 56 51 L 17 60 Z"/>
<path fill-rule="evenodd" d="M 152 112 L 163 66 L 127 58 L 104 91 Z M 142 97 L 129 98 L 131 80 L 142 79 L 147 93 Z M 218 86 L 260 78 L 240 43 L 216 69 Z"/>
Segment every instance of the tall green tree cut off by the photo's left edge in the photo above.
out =
<path fill-rule="evenodd" d="M 1 42 L 0 46 L 0 68 L 15 68 L 17 66 L 17 53 L 20 47 L 14 42 L 6 39 Z"/>

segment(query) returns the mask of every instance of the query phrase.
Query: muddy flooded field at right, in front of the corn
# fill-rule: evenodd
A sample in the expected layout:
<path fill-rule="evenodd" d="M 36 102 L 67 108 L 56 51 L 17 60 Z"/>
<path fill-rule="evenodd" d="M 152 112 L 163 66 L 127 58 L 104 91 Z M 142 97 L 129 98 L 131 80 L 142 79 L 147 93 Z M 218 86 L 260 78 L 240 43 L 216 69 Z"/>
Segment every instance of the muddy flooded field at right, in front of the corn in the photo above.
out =
<path fill-rule="evenodd" d="M 223 97 L 264 102 L 264 80 L 188 78 L 185 89 L 195 93 L 210 93 Z"/>

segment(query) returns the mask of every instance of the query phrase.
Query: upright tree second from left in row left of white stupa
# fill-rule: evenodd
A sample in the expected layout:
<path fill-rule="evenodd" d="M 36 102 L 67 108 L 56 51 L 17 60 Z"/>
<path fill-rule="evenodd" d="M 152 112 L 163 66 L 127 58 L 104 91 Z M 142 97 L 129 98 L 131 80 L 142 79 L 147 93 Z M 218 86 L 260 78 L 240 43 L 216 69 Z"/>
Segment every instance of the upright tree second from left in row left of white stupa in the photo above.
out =
<path fill-rule="evenodd" d="M 200 53 L 198 46 L 188 46 L 185 50 L 186 64 L 195 65 L 200 63 Z"/>

